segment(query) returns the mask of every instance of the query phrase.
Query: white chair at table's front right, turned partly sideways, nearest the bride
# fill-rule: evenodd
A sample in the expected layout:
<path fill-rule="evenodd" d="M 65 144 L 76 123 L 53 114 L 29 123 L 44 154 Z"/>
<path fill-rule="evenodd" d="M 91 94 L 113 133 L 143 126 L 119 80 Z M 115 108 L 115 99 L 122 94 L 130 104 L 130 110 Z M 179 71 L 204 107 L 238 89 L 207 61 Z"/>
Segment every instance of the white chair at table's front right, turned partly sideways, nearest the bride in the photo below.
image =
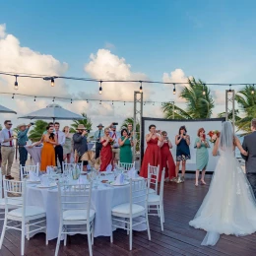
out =
<path fill-rule="evenodd" d="M 142 221 L 134 222 L 133 219 L 142 217 Z M 137 224 L 147 224 L 149 240 L 151 231 L 148 219 L 148 187 L 147 179 L 130 179 L 130 199 L 129 203 L 117 205 L 112 208 L 112 226 L 127 230 L 129 233 L 129 248 L 132 250 L 133 226 Z M 113 232 L 110 236 L 113 242 Z"/>

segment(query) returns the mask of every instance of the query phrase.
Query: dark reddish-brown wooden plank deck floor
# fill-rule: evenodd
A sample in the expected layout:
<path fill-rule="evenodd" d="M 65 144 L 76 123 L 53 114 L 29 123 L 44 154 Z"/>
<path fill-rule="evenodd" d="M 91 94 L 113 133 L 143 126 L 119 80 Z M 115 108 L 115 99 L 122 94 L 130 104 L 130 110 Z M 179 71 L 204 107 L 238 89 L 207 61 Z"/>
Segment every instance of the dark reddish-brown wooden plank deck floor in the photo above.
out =
<path fill-rule="evenodd" d="M 211 176 L 207 177 L 209 183 Z M 147 232 L 134 232 L 133 250 L 129 251 L 129 239 L 124 230 L 114 232 L 114 242 L 109 237 L 97 237 L 93 247 L 95 256 L 154 256 L 154 255 L 255 255 L 256 234 L 235 237 L 222 235 L 214 247 L 201 246 L 205 231 L 190 227 L 208 186 L 194 186 L 193 175 L 188 175 L 185 183 L 167 183 L 164 186 L 164 231 L 160 231 L 158 217 L 150 217 L 152 241 Z M 2 224 L 2 222 L 1 222 Z M 54 255 L 56 239 L 44 243 L 44 234 L 37 234 L 26 241 L 26 255 Z M 20 255 L 20 232 L 8 230 L 0 255 Z M 60 246 L 59 255 L 89 255 L 86 235 L 74 235 L 67 246 Z"/>

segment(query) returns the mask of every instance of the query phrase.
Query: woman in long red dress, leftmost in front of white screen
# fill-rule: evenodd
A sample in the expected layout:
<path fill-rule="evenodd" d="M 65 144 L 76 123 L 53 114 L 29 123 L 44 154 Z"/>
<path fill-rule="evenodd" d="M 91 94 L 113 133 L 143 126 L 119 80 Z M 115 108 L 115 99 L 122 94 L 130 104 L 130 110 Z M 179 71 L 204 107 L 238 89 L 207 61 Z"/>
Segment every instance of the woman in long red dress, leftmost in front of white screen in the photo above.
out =
<path fill-rule="evenodd" d="M 147 149 L 144 154 L 140 176 L 148 178 L 148 165 L 158 166 L 160 164 L 160 146 L 159 142 L 162 138 L 156 131 L 156 125 L 152 124 L 149 127 L 150 133 L 146 135 Z"/>

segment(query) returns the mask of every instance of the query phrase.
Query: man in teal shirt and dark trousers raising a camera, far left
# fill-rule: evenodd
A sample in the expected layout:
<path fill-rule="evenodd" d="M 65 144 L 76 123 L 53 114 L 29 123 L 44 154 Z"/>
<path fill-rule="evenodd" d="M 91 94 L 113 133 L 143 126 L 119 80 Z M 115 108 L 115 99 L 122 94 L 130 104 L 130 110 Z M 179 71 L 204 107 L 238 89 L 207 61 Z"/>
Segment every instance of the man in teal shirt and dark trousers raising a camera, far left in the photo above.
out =
<path fill-rule="evenodd" d="M 25 123 L 17 126 L 19 129 L 18 132 L 18 146 L 19 146 L 19 155 L 20 155 L 20 165 L 25 166 L 26 161 L 28 160 L 28 151 L 25 146 L 29 141 L 28 132 L 32 124 L 26 125 Z"/>

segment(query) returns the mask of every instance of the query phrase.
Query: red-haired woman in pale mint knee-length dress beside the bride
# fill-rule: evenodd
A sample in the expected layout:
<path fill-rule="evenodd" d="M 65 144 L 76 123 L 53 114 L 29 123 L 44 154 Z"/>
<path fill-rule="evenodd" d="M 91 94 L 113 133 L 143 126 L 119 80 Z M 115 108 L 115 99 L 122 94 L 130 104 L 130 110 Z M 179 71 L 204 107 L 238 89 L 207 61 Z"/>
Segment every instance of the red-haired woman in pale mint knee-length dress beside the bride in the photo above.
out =
<path fill-rule="evenodd" d="M 206 174 L 206 167 L 209 161 L 209 154 L 208 154 L 208 148 L 210 148 L 209 141 L 206 139 L 205 129 L 200 128 L 197 132 L 197 138 L 195 141 L 195 148 L 197 149 L 196 153 L 196 183 L 195 186 L 198 186 L 198 178 L 199 178 L 199 172 L 202 171 L 201 176 L 201 184 L 206 185 L 205 182 L 205 174 Z"/>

